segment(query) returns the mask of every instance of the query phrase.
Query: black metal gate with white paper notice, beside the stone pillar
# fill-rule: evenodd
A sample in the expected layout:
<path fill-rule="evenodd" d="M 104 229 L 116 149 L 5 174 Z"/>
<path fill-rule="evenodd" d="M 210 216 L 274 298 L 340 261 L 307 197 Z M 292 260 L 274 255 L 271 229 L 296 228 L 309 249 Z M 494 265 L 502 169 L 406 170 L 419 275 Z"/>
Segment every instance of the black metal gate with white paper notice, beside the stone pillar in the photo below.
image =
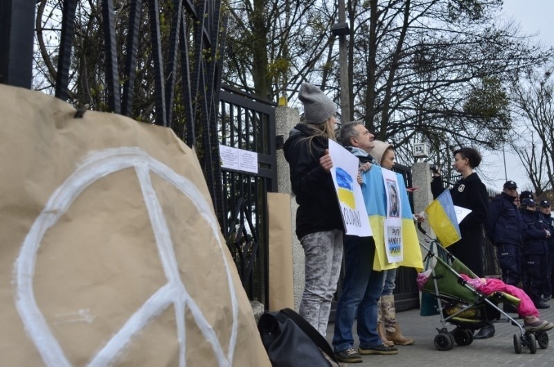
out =
<path fill-rule="evenodd" d="M 222 145 L 256 152 L 258 172 L 222 168 L 222 230 L 251 300 L 267 305 L 267 193 L 277 190 L 275 105 L 224 87 Z"/>

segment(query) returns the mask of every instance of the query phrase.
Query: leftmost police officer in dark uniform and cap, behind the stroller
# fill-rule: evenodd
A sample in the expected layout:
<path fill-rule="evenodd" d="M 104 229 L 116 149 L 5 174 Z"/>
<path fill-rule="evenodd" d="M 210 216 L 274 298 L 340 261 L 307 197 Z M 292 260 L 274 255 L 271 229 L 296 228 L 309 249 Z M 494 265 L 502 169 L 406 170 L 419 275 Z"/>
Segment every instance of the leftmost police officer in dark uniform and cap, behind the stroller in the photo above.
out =
<path fill-rule="evenodd" d="M 497 247 L 497 258 L 502 270 L 502 280 L 517 287 L 521 281 L 521 245 L 525 224 L 514 201 L 517 199 L 517 184 L 506 181 L 499 197 L 489 204 L 487 236 Z"/>

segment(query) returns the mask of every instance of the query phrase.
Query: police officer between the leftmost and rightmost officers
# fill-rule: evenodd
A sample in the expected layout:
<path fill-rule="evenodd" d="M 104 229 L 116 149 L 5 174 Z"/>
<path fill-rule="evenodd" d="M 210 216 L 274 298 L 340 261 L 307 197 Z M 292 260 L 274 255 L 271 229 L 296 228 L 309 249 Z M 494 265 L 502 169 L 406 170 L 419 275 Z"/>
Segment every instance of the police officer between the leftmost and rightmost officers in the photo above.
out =
<path fill-rule="evenodd" d="M 536 210 L 535 200 L 526 198 L 521 204 L 525 207 L 522 213 L 527 225 L 524 236 L 524 291 L 533 300 L 535 307 L 549 308 L 550 305 L 542 299 L 542 292 L 548 265 L 546 241 L 551 237 L 551 231 L 544 222 L 544 216 Z"/>

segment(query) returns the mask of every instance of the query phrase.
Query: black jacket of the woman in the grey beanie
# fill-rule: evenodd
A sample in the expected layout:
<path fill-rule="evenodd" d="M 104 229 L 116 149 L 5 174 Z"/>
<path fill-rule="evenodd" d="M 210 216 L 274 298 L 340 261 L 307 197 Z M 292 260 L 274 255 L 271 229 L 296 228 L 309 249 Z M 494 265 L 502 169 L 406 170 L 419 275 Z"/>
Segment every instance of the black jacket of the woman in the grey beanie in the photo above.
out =
<path fill-rule="evenodd" d="M 329 148 L 329 141 L 323 136 L 309 140 L 314 133 L 304 124 L 291 130 L 283 146 L 285 159 L 289 163 L 292 192 L 296 195 L 296 236 L 298 239 L 316 232 L 344 230 L 339 199 L 334 190 L 330 172 L 325 172 L 319 159 Z"/>

